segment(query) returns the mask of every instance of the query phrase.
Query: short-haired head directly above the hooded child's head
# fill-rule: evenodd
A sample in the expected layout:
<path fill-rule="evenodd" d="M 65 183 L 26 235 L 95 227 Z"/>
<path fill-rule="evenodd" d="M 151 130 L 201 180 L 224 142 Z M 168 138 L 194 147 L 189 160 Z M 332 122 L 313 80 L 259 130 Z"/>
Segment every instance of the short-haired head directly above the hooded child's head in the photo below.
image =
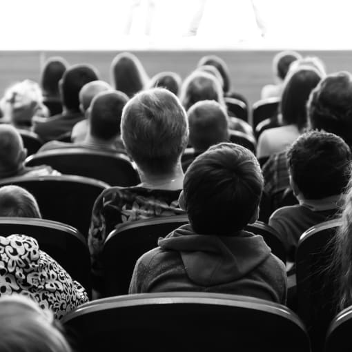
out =
<path fill-rule="evenodd" d="M 189 142 L 203 151 L 228 141 L 228 116 L 223 106 L 213 100 L 198 101 L 188 111 Z"/>

